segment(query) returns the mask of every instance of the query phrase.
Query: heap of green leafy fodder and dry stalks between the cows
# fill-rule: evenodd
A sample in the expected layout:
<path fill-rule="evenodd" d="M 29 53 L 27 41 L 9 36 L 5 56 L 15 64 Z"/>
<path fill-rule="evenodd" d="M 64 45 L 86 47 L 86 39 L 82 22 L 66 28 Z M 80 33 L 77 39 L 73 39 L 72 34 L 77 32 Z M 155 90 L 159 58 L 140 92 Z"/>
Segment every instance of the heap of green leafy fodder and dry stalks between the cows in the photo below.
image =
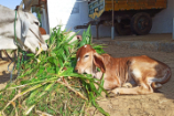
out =
<path fill-rule="evenodd" d="M 53 29 L 47 40 L 48 51 L 39 55 L 28 54 L 30 60 L 21 64 L 20 75 L 0 91 L 0 116 L 79 116 L 90 105 L 108 115 L 96 103 L 96 97 L 104 91 L 104 81 L 74 72 L 76 52 L 80 46 L 90 44 L 98 53 L 104 53 L 102 45 L 91 43 L 90 27 L 84 31 L 80 42 L 69 44 L 75 35 L 68 38 L 64 33 L 58 27 Z M 100 86 L 99 89 L 96 89 L 95 83 Z"/>

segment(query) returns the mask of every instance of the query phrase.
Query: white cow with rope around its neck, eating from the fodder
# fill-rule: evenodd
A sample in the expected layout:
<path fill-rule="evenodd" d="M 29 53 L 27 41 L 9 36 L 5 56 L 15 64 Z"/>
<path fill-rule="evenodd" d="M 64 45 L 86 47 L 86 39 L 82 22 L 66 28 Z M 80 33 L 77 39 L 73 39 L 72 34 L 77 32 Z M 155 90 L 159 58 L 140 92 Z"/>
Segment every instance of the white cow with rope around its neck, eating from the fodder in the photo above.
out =
<path fill-rule="evenodd" d="M 0 6 L 0 50 L 17 50 L 18 46 L 23 51 L 31 51 L 32 53 L 36 53 L 36 49 L 40 48 L 44 51 L 47 50 L 45 40 L 50 39 L 50 35 L 41 35 L 40 22 L 30 12 L 31 6 L 23 9 L 22 1 L 17 10 L 17 18 L 14 10 Z"/>

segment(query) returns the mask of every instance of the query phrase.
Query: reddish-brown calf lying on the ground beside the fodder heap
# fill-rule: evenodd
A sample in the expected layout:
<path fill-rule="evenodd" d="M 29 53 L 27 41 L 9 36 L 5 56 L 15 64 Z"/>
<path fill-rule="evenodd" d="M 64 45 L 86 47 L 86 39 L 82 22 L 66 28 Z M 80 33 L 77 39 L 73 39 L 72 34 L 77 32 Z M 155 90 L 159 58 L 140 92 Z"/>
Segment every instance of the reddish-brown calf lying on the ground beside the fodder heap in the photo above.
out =
<path fill-rule="evenodd" d="M 104 76 L 104 88 L 111 94 L 150 94 L 166 83 L 172 75 L 171 68 L 146 55 L 112 57 L 99 55 L 90 45 L 81 46 L 77 53 L 77 73 L 91 74 L 96 78 Z M 101 72 L 97 72 L 99 67 Z M 133 87 L 123 87 L 134 85 Z"/>

